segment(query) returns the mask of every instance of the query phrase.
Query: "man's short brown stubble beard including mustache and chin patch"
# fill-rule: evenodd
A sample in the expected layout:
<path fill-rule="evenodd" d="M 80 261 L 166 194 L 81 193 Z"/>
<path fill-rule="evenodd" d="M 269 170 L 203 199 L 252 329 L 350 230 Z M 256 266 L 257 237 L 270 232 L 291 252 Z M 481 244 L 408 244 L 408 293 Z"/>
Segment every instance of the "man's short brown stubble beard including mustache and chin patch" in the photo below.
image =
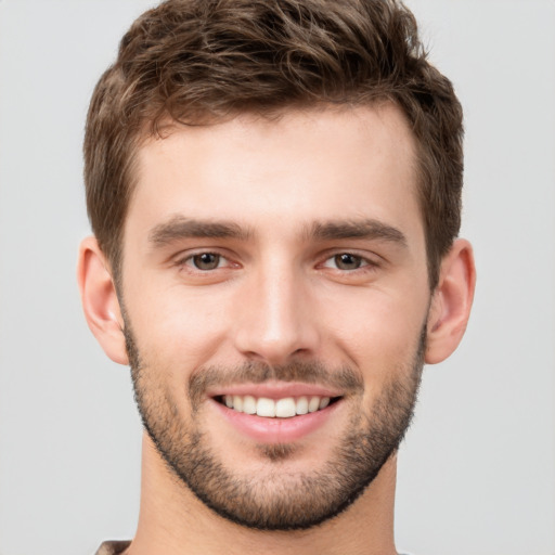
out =
<path fill-rule="evenodd" d="M 295 456 L 295 444 L 257 446 L 266 461 L 259 476 L 237 476 L 225 466 L 225 453 L 216 453 L 202 431 L 203 391 L 218 376 L 247 376 L 262 383 L 269 376 L 284 380 L 315 382 L 319 375 L 343 376 L 353 389 L 362 388 L 351 369 L 327 370 L 318 362 L 269 367 L 205 369 L 190 382 L 189 423 L 170 392 L 157 379 L 164 369 L 152 369 L 140 352 L 127 319 L 125 327 L 134 397 L 143 426 L 170 472 L 206 506 L 238 525 L 258 530 L 302 530 L 333 518 L 349 507 L 369 487 L 387 460 L 397 452 L 410 426 L 422 377 L 425 328 L 412 360 L 392 369 L 391 378 L 370 412 L 352 414 L 350 425 L 332 456 L 320 469 L 304 474 L 284 472 L 282 463 Z M 208 379 L 203 376 L 209 376 Z M 256 376 L 256 377 L 255 377 Z M 229 379 L 229 378 L 228 378 Z M 195 421 L 195 417 L 198 418 Z"/>

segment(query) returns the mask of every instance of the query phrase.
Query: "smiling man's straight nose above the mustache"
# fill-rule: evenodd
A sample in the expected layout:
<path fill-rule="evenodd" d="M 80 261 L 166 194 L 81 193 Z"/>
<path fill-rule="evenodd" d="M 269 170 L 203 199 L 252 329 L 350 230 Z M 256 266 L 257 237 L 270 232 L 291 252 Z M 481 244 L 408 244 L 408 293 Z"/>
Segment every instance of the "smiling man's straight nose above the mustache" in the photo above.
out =
<path fill-rule="evenodd" d="M 260 269 L 247 280 L 235 321 L 237 350 L 270 365 L 315 356 L 320 343 L 309 280 L 283 266 Z"/>

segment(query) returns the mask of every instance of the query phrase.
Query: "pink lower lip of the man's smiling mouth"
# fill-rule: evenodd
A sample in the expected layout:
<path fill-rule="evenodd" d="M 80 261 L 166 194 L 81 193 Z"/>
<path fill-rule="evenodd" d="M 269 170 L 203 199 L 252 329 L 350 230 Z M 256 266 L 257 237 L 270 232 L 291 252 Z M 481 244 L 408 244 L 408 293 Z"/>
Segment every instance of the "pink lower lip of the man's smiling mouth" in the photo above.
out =
<path fill-rule="evenodd" d="M 266 418 L 256 414 L 228 409 L 224 404 L 211 399 L 216 410 L 241 434 L 261 443 L 289 443 L 297 441 L 318 430 L 337 410 L 338 400 L 323 410 L 292 416 L 291 418 Z"/>

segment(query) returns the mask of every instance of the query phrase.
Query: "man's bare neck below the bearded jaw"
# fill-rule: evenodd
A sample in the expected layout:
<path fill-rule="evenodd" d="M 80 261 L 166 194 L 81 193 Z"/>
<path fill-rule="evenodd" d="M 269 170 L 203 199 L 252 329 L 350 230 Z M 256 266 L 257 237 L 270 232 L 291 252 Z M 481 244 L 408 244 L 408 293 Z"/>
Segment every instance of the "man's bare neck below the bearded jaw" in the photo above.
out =
<path fill-rule="evenodd" d="M 344 513 L 301 531 L 260 531 L 231 522 L 206 507 L 143 440 L 141 511 L 126 555 L 393 555 L 396 457 Z"/>

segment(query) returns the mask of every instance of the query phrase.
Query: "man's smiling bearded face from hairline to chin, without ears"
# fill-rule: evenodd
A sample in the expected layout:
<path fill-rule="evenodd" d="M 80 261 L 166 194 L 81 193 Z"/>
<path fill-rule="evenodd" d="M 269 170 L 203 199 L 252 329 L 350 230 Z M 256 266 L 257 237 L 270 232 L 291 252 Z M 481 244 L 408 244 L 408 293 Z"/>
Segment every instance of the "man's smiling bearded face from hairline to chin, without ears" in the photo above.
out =
<path fill-rule="evenodd" d="M 177 128 L 139 152 L 120 298 L 139 408 L 220 515 L 308 528 L 395 452 L 430 296 L 391 105 Z"/>

